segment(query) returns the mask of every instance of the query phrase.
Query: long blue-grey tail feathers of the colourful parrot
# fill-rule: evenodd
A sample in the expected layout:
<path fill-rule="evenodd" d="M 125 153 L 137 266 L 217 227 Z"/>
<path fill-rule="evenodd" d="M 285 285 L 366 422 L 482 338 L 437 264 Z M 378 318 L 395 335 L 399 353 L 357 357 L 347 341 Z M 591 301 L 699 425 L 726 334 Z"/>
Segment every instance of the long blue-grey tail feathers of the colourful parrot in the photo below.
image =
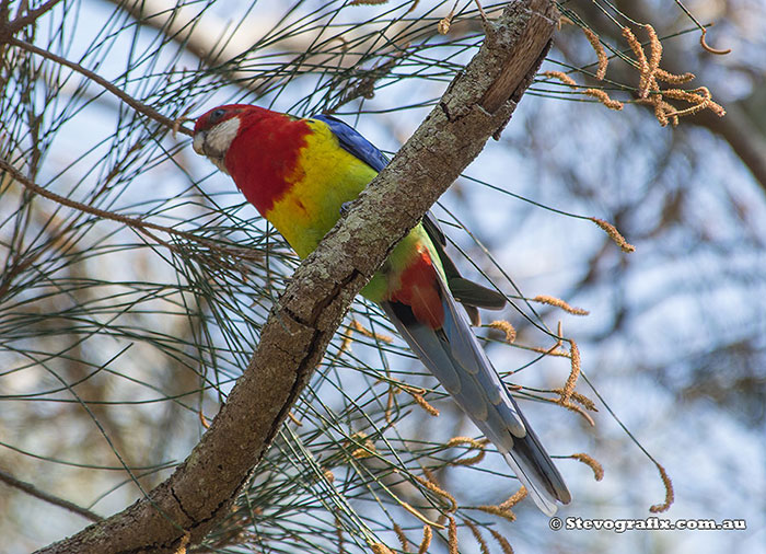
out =
<path fill-rule="evenodd" d="M 457 405 L 500 450 L 537 507 L 553 516 L 557 500 L 571 500 L 567 485 L 492 368 L 466 316 L 442 282 L 440 287 L 444 323 L 439 330 L 419 323 L 406 304 L 383 302 L 383 310 Z"/>

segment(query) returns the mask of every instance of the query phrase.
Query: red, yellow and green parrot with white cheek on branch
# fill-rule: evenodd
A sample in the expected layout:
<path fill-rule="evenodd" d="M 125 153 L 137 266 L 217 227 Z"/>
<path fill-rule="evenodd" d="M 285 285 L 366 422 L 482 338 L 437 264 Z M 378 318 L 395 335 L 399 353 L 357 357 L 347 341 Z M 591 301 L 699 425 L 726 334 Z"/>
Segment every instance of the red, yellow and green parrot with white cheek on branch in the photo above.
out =
<path fill-rule="evenodd" d="M 228 104 L 195 122 L 193 148 L 230 175 L 299 257 L 306 257 L 387 158 L 330 115 L 295 117 Z M 429 211 L 392 250 L 361 295 L 503 455 L 537 507 L 553 516 L 571 495 L 492 367 L 471 324 L 506 297 L 462 277 Z M 465 311 L 460 310 L 462 303 Z"/>

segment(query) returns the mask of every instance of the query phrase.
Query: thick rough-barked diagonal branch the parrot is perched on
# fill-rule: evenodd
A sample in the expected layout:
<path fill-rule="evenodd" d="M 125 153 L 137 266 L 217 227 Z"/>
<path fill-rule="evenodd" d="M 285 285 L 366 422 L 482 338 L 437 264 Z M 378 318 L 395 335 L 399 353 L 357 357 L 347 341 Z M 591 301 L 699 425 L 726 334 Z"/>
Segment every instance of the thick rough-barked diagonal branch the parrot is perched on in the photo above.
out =
<path fill-rule="evenodd" d="M 539 67 L 558 13 L 510 2 L 439 104 L 348 215 L 300 265 L 260 344 L 189 457 L 124 511 L 46 553 L 176 552 L 227 515 L 321 361 L 353 297 L 398 239 L 508 123 Z"/>

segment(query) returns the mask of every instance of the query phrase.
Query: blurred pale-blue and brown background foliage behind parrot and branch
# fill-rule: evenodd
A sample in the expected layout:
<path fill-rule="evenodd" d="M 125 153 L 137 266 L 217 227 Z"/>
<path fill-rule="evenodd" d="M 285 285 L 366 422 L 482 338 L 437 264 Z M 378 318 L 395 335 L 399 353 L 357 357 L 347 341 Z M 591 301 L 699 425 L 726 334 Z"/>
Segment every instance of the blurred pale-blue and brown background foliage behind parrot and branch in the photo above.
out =
<path fill-rule="evenodd" d="M 332 112 L 393 154 L 477 50 L 480 14 L 468 0 L 355 3 L 63 0 L 15 34 L 44 53 L 0 45 L 4 551 L 88 522 L 19 482 L 108 516 L 165 478 L 246 367 L 297 265 L 186 137 L 79 69 L 172 119 L 230 102 Z M 491 18 L 502 4 L 483 9 Z M 2 2 L 2 13 L 13 20 L 40 5 Z M 762 552 L 765 7 L 579 0 L 559 9 L 570 23 L 543 69 L 582 88 L 541 74 L 501 139 L 434 207 L 461 269 L 512 299 L 503 313 L 485 313 L 477 333 L 527 399 L 569 374 L 569 360 L 534 350 L 555 346 L 559 322 L 580 346 L 588 383 L 578 391 L 596 401 L 595 426 L 524 402 L 552 454 L 588 452 L 605 471 L 595 482 L 587 465 L 558 460 L 574 495 L 561 517 L 649 516 L 665 492 L 646 449 L 674 482 L 663 517 L 745 518 L 747 531 L 554 533 L 529 501 L 513 508 L 515 521 L 509 510 L 488 512 L 518 483 L 491 452 L 456 463 L 472 462 L 477 446 L 448 441 L 475 428 L 359 300 L 207 549 L 350 553 L 381 541 L 417 552 L 426 527 L 429 552 L 448 552 L 454 518 L 465 553 L 503 552 L 502 540 L 517 552 Z M 715 22 L 707 42 L 731 53 L 706 51 L 696 22 Z M 662 43 L 660 67 L 693 72 L 681 88 L 707 86 L 726 117 L 703 109 L 663 127 L 636 102 L 636 53 L 622 27 L 649 51 L 646 23 Z M 611 56 L 604 80 L 583 26 Z M 583 94 L 590 86 L 624 108 Z M 91 208 L 186 234 L 43 198 L 8 166 Z M 614 223 L 636 253 L 582 217 Z M 538 295 L 590 315 L 527 301 Z M 513 344 L 488 328 L 495 319 L 515 327 Z"/>

